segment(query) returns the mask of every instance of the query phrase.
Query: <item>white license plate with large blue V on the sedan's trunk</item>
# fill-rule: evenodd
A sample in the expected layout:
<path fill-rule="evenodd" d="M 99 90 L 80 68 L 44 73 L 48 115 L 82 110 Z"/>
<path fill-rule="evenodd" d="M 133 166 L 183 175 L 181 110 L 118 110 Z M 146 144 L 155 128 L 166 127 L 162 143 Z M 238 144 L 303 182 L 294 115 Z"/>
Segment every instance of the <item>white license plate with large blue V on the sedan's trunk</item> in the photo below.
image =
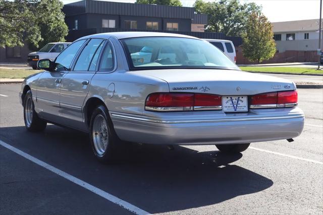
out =
<path fill-rule="evenodd" d="M 248 96 L 222 96 L 222 109 L 224 112 L 247 112 Z"/>

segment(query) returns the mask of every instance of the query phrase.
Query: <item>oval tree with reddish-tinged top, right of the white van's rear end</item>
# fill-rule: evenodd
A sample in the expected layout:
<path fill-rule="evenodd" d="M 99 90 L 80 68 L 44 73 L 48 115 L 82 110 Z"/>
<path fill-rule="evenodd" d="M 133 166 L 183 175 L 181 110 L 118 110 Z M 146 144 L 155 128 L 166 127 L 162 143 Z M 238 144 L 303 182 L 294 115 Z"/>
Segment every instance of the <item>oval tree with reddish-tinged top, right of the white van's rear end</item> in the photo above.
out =
<path fill-rule="evenodd" d="M 249 61 L 261 63 L 274 57 L 276 44 L 273 39 L 272 24 L 264 15 L 251 14 L 246 23 L 246 32 L 243 33 L 243 56 Z"/>

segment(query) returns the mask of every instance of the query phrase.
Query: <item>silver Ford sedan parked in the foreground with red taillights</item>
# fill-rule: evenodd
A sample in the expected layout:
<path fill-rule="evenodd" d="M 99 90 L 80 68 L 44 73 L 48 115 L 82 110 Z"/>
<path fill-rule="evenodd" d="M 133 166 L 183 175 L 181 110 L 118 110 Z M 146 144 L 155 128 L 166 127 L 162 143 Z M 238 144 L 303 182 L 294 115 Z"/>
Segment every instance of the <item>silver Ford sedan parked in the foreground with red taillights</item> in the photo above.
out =
<path fill-rule="evenodd" d="M 143 47 L 150 47 L 149 62 L 132 55 Z M 42 131 L 49 122 L 88 132 L 101 161 L 128 141 L 215 144 L 237 153 L 250 142 L 291 141 L 304 126 L 295 83 L 242 72 L 191 36 L 89 35 L 38 67 L 45 71 L 26 78 L 19 94 L 26 129 Z"/>

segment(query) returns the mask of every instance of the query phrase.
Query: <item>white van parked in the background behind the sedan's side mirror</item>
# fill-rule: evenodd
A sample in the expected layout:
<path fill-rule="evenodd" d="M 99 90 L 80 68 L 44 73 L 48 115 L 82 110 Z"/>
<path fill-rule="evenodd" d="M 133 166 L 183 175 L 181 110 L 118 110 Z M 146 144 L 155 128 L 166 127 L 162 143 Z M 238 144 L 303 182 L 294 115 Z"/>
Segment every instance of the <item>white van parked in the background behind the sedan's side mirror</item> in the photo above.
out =
<path fill-rule="evenodd" d="M 49 59 L 55 61 L 56 57 L 61 53 L 71 42 L 50 42 L 39 51 L 34 51 L 28 54 L 27 64 L 34 70 L 37 69 L 37 62 L 41 59 Z"/>

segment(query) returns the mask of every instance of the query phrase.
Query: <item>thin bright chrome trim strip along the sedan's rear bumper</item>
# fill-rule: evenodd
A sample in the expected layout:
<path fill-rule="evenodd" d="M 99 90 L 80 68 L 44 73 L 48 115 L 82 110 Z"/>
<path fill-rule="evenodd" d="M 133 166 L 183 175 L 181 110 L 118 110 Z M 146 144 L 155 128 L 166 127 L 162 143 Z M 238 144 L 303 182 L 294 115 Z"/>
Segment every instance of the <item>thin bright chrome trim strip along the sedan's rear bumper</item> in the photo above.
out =
<path fill-rule="evenodd" d="M 252 118 L 236 118 L 236 119 L 214 119 L 214 120 L 154 120 L 140 117 L 131 117 L 120 114 L 111 114 L 112 117 L 138 120 L 144 122 L 152 123 L 166 123 L 166 124 L 175 124 L 175 123 L 219 123 L 219 122 L 240 122 L 240 121 L 256 121 L 256 120 L 283 120 L 283 119 L 294 119 L 294 118 L 304 118 L 303 114 L 290 115 L 290 116 L 281 116 L 281 117 L 252 117 Z"/>

